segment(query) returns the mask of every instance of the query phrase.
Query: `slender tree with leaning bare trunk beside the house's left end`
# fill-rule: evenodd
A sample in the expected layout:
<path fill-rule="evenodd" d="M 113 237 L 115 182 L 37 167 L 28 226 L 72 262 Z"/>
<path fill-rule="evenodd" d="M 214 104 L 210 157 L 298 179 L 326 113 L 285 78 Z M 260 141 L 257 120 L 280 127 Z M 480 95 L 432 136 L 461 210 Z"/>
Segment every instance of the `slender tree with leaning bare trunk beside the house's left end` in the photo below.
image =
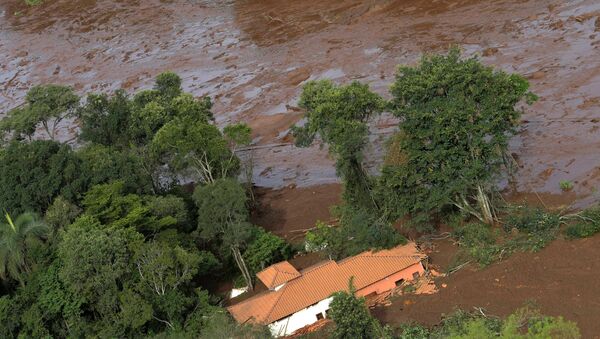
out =
<path fill-rule="evenodd" d="M 251 239 L 254 226 L 248 222 L 248 197 L 235 179 L 218 179 L 197 186 L 194 201 L 198 206 L 198 233 L 207 240 L 219 239 L 228 248 L 250 290 L 250 270 L 241 254 Z"/>

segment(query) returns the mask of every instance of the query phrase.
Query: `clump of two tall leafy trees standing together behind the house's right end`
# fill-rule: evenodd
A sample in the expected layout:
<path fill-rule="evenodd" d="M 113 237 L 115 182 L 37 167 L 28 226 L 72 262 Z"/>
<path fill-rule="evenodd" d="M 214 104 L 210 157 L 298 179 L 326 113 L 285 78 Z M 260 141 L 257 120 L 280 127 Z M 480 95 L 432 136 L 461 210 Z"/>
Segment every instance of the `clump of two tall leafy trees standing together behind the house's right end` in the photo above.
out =
<path fill-rule="evenodd" d="M 399 67 L 389 103 L 358 82 L 307 83 L 299 102 L 306 123 L 292 130 L 298 146 L 317 135 L 327 144 L 344 183 L 344 210 L 379 223 L 407 220 L 418 230 L 453 211 L 491 225 L 495 182 L 521 116 L 516 107 L 537 99 L 528 89 L 522 76 L 463 59 L 454 48 Z M 401 122 L 381 174 L 372 176 L 363 165 L 368 122 L 386 107 Z"/>

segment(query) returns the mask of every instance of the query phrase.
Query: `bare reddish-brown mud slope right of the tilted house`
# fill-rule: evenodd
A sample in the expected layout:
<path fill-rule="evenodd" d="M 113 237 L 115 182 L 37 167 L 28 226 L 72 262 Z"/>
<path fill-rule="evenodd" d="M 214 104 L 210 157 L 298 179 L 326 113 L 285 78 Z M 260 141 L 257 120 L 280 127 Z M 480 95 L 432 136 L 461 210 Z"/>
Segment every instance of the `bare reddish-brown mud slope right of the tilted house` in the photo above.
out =
<path fill-rule="evenodd" d="M 599 254 L 600 235 L 556 240 L 540 252 L 517 253 L 485 269 L 463 268 L 438 279 L 438 293 L 403 296 L 373 314 L 390 325 L 415 321 L 432 326 L 456 308 L 483 307 L 489 314 L 506 316 L 534 302 L 544 314 L 577 322 L 584 338 L 597 337 Z"/>

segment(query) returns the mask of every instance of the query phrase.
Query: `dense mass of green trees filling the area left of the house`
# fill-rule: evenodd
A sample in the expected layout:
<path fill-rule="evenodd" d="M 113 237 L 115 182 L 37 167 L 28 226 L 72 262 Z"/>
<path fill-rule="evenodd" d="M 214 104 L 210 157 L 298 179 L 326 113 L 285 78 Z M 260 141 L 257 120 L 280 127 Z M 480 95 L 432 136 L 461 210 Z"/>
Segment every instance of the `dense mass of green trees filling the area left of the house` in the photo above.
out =
<path fill-rule="evenodd" d="M 152 90 L 82 104 L 68 87 L 37 86 L 6 115 L 0 337 L 270 336 L 238 325 L 201 283 L 235 277 L 237 266 L 251 284 L 291 255 L 248 221 L 235 150 L 250 129 L 222 133 L 210 108 L 163 73 Z M 73 117 L 77 149 L 54 140 Z"/>

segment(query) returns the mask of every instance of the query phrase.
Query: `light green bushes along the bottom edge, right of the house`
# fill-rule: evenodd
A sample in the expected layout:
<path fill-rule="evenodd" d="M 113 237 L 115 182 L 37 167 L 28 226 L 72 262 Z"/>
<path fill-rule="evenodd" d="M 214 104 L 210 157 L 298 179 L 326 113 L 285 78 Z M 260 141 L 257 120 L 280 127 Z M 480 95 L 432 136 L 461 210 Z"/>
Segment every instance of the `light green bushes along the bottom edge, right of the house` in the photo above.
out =
<path fill-rule="evenodd" d="M 482 312 L 456 311 L 439 326 L 428 329 L 406 324 L 398 329 L 400 339 L 422 338 L 581 338 L 579 328 L 562 317 L 548 317 L 531 306 L 516 310 L 506 319 L 485 316 Z"/>

